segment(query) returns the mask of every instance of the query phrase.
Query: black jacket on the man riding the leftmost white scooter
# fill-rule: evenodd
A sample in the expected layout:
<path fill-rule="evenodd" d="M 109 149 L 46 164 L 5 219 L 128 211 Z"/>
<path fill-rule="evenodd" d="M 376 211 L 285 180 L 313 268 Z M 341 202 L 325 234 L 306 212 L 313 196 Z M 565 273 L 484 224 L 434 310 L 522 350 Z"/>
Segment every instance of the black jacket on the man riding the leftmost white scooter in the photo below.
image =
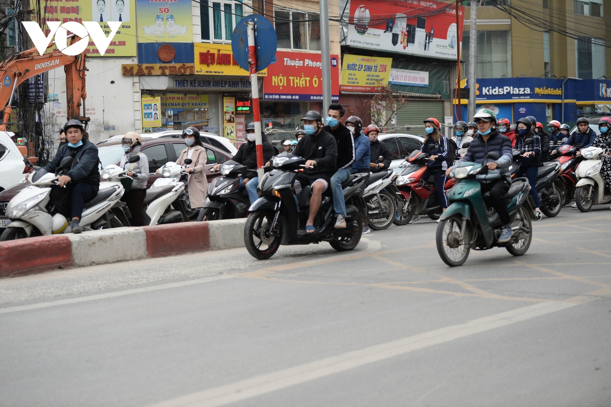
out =
<path fill-rule="evenodd" d="M 64 144 L 57 149 L 51 163 L 47 164 L 44 168 L 47 172 L 55 172 L 57 166 L 65 157 L 72 157 L 72 167 L 66 175 L 71 178 L 71 182 L 77 183 L 88 183 L 100 186 L 100 173 L 98 172 L 98 147 L 89 140 L 83 139 L 82 145 L 73 149 L 68 144 Z"/>

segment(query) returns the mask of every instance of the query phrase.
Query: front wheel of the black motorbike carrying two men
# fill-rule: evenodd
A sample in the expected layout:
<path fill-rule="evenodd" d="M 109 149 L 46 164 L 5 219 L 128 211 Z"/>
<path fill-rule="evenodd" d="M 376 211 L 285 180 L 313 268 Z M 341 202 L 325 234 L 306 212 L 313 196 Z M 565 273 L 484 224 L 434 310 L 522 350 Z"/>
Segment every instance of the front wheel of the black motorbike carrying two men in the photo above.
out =
<path fill-rule="evenodd" d="M 274 211 L 264 209 L 251 212 L 246 219 L 244 244 L 255 259 L 269 259 L 280 248 L 280 222 L 276 224 L 277 234 L 271 233 L 274 215 Z"/>

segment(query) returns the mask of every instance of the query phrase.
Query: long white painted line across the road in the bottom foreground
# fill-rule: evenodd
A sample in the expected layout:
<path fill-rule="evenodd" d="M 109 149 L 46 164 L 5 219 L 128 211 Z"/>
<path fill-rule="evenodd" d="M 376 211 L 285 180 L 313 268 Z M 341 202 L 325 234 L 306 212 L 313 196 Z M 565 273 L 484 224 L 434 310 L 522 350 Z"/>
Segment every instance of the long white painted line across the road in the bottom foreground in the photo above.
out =
<path fill-rule="evenodd" d="M 289 369 L 278 370 L 266 375 L 215 387 L 202 392 L 155 404 L 152 407 L 216 407 L 257 397 L 258 395 L 295 386 L 334 373 L 345 372 L 362 365 L 390 359 L 426 347 L 450 342 L 455 339 L 501 328 L 531 318 L 541 317 L 569 307 L 576 303 L 539 303 L 528 307 L 502 312 L 485 318 L 478 318 L 461 325 L 448 326 L 424 332 L 373 347 L 332 356 Z"/>

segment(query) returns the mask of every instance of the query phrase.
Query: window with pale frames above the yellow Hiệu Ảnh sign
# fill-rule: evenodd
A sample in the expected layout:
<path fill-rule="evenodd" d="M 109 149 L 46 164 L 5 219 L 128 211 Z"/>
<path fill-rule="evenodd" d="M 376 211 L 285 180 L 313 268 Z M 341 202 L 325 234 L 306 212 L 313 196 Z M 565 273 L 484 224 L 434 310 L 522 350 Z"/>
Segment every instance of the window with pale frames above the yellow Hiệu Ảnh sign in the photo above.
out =
<path fill-rule="evenodd" d="M 200 1 L 202 40 L 231 41 L 235 25 L 244 18 L 241 1 Z"/>

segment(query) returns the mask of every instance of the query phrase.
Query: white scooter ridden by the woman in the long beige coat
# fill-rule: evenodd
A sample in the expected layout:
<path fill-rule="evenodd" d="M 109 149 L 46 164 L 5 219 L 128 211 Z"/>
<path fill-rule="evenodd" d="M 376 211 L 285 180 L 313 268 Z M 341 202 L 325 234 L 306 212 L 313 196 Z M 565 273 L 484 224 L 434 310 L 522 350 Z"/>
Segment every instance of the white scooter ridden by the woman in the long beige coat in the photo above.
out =
<path fill-rule="evenodd" d="M 191 164 L 187 158 L 185 164 Z M 144 223 L 149 226 L 166 223 L 189 222 L 187 208 L 182 199 L 185 193 L 186 182 L 180 180 L 181 175 L 187 174 L 186 167 L 169 161 L 159 168 L 162 177 L 155 180 L 147 189 L 144 198 Z"/>

